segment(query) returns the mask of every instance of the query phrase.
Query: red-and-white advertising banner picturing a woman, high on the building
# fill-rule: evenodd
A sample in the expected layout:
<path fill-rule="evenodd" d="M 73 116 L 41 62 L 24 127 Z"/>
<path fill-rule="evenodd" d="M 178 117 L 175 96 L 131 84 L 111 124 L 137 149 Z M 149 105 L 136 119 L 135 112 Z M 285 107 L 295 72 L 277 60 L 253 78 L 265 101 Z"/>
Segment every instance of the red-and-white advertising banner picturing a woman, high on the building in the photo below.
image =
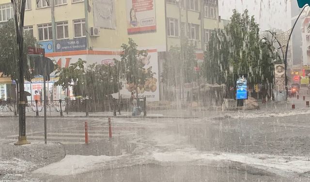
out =
<path fill-rule="evenodd" d="M 156 32 L 155 0 L 126 0 L 127 33 Z"/>

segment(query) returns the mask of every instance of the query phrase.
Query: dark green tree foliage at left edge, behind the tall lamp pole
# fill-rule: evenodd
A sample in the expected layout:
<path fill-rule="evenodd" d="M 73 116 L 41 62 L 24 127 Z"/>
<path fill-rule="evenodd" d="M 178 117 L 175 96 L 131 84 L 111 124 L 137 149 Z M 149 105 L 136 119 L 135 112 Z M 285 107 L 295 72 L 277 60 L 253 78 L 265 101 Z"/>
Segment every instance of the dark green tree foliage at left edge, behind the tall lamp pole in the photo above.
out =
<path fill-rule="evenodd" d="M 18 80 L 18 45 L 16 42 L 15 21 L 10 19 L 0 27 L 0 72 L 3 75 L 11 77 L 12 80 Z M 28 32 L 24 33 L 24 60 L 27 60 L 27 48 L 35 47 L 36 39 Z M 30 81 L 37 74 L 33 71 L 34 63 L 24 66 L 24 77 Z M 1 76 L 1 75 L 0 75 Z"/>

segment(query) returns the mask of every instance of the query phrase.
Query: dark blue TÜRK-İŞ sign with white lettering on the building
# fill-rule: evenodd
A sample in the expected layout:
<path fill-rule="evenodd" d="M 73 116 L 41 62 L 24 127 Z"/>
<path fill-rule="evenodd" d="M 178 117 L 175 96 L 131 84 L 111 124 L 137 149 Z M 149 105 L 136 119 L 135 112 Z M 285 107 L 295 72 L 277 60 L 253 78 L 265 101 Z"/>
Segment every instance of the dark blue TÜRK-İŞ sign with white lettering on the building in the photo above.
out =
<path fill-rule="evenodd" d="M 56 41 L 56 52 L 86 50 L 86 37 Z"/>

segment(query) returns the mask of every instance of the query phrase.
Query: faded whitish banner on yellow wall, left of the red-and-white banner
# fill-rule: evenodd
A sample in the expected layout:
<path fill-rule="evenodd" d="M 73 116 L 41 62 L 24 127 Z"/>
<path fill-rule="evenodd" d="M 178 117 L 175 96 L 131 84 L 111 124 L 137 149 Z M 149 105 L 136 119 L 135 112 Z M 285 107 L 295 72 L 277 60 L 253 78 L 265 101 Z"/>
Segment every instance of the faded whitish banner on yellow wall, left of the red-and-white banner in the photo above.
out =
<path fill-rule="evenodd" d="M 93 23 L 95 27 L 116 29 L 114 0 L 93 0 Z"/>

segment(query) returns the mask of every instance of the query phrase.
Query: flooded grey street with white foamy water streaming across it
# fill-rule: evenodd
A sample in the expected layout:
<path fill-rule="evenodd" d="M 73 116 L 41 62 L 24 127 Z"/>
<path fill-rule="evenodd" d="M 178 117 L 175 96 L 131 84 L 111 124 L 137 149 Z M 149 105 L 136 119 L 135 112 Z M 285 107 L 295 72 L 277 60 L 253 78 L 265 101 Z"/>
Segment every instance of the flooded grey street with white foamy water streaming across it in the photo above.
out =
<path fill-rule="evenodd" d="M 247 111 L 191 119 L 113 118 L 112 139 L 107 119 L 91 118 L 89 144 L 83 144 L 85 119 L 63 118 L 60 124 L 51 118 L 48 138 L 62 142 L 66 156 L 22 176 L 38 182 L 310 181 L 310 110 L 273 116 L 279 107 L 269 107 L 264 117 Z M 1 123 L 10 127 L 9 120 Z M 39 123 L 33 119 L 29 125 L 30 139 L 43 135 Z"/>

